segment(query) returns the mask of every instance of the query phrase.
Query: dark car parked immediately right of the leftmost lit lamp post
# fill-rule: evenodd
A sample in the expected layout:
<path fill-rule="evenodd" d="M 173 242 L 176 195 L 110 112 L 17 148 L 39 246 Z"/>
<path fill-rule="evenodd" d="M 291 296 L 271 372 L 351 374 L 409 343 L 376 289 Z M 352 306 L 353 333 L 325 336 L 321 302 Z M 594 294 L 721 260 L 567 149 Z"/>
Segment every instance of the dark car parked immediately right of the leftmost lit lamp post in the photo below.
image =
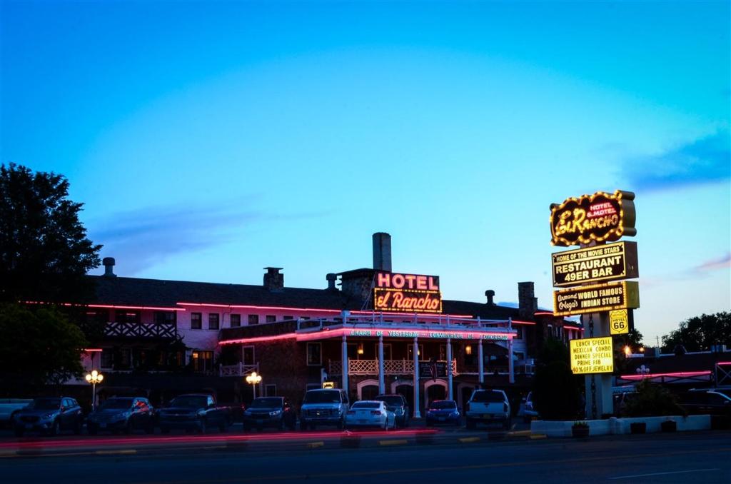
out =
<path fill-rule="evenodd" d="M 154 408 L 147 398 L 108 398 L 86 417 L 86 430 L 91 435 L 99 431 L 131 434 L 135 430 L 152 434 L 155 431 Z"/>

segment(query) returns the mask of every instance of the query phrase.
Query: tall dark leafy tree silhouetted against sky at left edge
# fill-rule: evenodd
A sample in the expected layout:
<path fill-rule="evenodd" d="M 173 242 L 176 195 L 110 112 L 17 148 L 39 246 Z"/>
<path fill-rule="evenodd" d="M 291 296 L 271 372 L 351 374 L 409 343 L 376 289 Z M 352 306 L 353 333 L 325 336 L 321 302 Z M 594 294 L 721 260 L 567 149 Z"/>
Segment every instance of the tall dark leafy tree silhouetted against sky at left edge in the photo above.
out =
<path fill-rule="evenodd" d="M 0 166 L 0 300 L 83 303 L 91 295 L 85 275 L 102 246 L 86 237 L 83 204 L 68 194 L 62 175 Z"/>

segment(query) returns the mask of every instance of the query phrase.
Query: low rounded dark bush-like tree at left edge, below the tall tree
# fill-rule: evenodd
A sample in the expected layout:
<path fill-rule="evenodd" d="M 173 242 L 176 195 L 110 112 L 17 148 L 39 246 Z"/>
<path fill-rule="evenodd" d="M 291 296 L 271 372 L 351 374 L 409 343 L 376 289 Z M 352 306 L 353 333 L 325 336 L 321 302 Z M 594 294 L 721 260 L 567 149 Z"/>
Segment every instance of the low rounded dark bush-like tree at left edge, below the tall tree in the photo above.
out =
<path fill-rule="evenodd" d="M 53 306 L 0 303 L 0 388 L 22 396 L 81 374 L 86 338 Z"/>

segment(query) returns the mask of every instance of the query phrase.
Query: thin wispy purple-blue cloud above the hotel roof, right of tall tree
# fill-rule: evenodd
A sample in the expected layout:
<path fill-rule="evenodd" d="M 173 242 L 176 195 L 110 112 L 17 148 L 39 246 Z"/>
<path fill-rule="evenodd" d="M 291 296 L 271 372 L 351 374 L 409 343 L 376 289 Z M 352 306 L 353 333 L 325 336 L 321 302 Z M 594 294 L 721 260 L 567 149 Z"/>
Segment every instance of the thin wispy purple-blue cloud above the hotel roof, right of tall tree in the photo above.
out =
<path fill-rule="evenodd" d="M 248 203 L 170 205 L 113 213 L 89 224 L 91 240 L 102 254 L 124 260 L 134 275 L 175 254 L 197 252 L 234 240 L 254 224 L 303 219 L 323 213 L 276 214 L 246 208 Z"/>

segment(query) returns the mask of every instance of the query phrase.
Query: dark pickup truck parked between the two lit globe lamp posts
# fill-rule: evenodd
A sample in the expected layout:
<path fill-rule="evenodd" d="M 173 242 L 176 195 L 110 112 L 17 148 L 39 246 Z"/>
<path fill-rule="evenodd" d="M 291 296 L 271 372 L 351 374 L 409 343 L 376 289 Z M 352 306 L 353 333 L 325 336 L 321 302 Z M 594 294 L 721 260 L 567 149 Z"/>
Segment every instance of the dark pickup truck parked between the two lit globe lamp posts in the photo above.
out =
<path fill-rule="evenodd" d="M 208 428 L 218 427 L 225 432 L 230 424 L 230 409 L 216 406 L 216 398 L 205 393 L 176 396 L 158 412 L 158 425 L 163 434 L 170 433 L 172 428 L 205 434 Z"/>

